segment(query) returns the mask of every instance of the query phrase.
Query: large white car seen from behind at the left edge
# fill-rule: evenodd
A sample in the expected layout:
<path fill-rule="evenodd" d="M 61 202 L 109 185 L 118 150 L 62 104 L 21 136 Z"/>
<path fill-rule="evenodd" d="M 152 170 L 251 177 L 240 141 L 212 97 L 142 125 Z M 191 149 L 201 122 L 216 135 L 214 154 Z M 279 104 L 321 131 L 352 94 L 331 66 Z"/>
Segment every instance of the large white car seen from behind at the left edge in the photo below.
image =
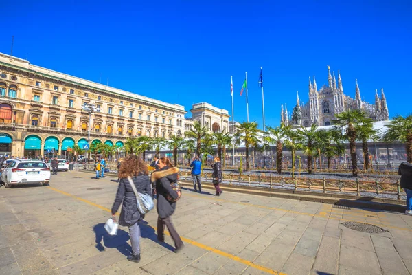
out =
<path fill-rule="evenodd" d="M 49 185 L 50 169 L 40 160 L 13 159 L 1 173 L 1 181 L 3 181 L 5 188 L 9 188 L 13 184 Z"/>

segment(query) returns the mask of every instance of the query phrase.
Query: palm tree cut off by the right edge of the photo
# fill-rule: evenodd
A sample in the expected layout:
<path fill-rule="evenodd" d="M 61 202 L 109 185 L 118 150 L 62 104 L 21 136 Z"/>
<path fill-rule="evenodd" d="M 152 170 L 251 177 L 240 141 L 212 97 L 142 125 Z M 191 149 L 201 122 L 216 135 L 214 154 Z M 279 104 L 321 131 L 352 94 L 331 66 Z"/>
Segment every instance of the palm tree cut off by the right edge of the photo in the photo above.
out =
<path fill-rule="evenodd" d="M 387 125 L 383 136 L 385 142 L 404 142 L 407 150 L 407 162 L 412 163 L 412 114 L 407 117 L 396 115 Z"/>

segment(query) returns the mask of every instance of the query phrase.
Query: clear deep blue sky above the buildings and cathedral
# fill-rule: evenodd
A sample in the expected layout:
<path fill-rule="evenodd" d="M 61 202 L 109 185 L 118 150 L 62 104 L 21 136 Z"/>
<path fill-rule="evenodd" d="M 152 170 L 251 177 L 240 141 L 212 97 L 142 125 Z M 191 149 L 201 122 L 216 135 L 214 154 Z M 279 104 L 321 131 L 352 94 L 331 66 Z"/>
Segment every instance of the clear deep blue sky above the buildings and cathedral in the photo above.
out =
<path fill-rule="evenodd" d="M 412 111 L 412 1 L 1 1 L 0 52 L 59 72 L 182 104 L 209 102 L 246 120 L 239 96 L 248 72 L 250 120 L 277 126 L 280 104 L 308 77 L 340 69 L 345 94 L 385 89 L 389 115 Z"/>

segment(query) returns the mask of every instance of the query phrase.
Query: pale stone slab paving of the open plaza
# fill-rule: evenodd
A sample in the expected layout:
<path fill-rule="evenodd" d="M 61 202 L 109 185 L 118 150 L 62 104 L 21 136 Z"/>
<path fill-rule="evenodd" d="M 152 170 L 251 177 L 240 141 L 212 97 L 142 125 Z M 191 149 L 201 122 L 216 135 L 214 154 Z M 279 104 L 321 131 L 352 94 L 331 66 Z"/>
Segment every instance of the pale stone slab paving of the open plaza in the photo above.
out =
<path fill-rule="evenodd" d="M 91 173 L 50 186 L 0 188 L 0 274 L 411 274 L 412 217 L 398 212 L 183 190 L 172 217 L 185 248 L 156 239 L 157 212 L 141 223 L 141 262 L 128 228 L 108 236 L 117 182 Z M 225 190 L 225 189 L 223 189 Z M 209 193 L 210 192 L 210 193 Z M 365 233 L 342 223 L 376 225 Z"/>

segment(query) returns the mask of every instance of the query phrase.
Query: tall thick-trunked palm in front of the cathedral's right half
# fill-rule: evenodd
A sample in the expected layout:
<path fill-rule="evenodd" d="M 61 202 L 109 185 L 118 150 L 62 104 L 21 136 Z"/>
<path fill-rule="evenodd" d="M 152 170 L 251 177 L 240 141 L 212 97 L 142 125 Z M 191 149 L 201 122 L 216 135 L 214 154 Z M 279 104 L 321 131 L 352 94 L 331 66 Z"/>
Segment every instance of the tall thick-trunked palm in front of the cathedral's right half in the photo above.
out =
<path fill-rule="evenodd" d="M 350 158 L 352 161 L 352 175 L 358 176 L 358 159 L 356 157 L 356 129 L 365 120 L 366 113 L 360 110 L 349 110 L 343 113 L 337 113 L 336 120 L 333 123 L 336 129 L 339 129 L 345 138 L 349 141 Z"/>

